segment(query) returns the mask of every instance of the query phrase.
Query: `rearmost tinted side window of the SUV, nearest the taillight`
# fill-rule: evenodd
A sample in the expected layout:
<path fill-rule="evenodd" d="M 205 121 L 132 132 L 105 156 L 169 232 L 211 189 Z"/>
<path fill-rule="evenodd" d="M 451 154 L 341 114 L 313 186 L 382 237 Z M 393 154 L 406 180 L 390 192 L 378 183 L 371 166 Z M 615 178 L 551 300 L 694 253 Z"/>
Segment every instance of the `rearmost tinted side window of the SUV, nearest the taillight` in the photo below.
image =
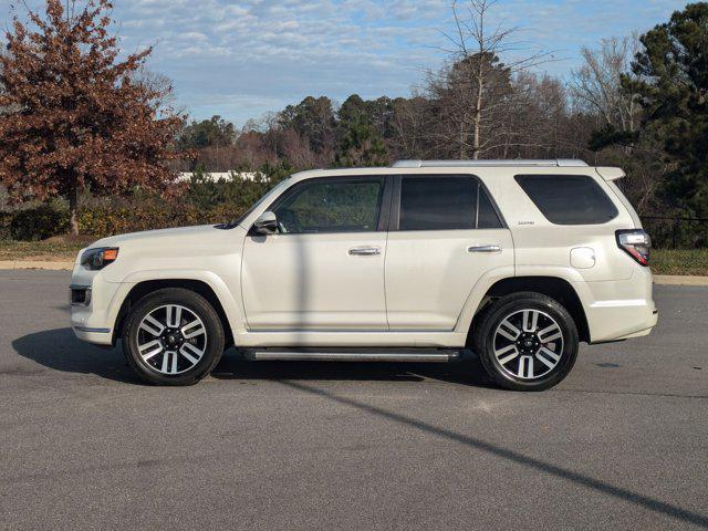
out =
<path fill-rule="evenodd" d="M 600 225 L 620 214 L 604 190 L 585 175 L 517 175 L 517 183 L 555 225 Z"/>

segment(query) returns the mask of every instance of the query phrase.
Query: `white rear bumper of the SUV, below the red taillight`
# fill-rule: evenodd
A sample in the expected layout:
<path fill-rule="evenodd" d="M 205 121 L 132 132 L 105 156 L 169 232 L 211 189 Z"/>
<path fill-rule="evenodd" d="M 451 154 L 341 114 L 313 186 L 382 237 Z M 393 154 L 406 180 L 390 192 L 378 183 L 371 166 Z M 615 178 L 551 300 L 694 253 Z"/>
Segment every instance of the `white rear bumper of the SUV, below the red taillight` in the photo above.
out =
<path fill-rule="evenodd" d="M 648 268 L 637 266 L 629 280 L 585 282 L 576 289 L 584 292 L 591 343 L 648 335 L 658 321 Z"/>

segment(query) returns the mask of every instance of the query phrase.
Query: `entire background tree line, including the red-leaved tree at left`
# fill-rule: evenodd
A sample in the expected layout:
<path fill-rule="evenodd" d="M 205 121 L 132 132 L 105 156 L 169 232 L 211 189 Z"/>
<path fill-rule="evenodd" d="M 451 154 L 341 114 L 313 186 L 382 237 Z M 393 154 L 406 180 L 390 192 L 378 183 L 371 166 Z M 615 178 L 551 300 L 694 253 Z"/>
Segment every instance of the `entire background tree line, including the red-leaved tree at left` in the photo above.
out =
<path fill-rule="evenodd" d="M 0 54 L 0 179 L 17 200 L 177 192 L 177 170 L 383 166 L 400 158 L 583 158 L 622 166 L 639 214 L 708 218 L 708 3 L 639 35 L 553 56 L 488 22 L 493 0 L 452 3 L 446 61 L 408 97 L 308 96 L 238 129 L 188 121 L 152 49 L 118 61 L 111 3 L 46 0 L 17 18 Z M 491 28 L 491 29 L 490 29 Z M 695 242 L 694 242 L 695 243 Z"/>

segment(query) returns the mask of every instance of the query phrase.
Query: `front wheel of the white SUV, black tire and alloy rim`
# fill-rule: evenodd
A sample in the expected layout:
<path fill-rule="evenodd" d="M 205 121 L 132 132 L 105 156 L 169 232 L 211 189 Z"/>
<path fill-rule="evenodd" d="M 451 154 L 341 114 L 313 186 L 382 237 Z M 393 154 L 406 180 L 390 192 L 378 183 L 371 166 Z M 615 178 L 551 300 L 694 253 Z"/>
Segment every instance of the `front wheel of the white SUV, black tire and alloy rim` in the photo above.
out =
<path fill-rule="evenodd" d="M 131 311 L 123 329 L 123 350 L 143 379 L 190 385 L 219 363 L 223 327 L 205 298 L 167 288 L 146 295 Z"/>

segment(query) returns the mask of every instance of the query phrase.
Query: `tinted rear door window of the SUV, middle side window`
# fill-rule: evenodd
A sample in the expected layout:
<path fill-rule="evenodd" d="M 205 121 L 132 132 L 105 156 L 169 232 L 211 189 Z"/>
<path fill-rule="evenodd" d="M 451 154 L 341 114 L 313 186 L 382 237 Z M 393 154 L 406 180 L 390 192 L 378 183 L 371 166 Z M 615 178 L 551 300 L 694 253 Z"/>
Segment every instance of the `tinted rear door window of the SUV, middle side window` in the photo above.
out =
<path fill-rule="evenodd" d="M 473 177 L 403 177 L 400 181 L 399 230 L 470 230 L 501 226 L 489 197 Z"/>

